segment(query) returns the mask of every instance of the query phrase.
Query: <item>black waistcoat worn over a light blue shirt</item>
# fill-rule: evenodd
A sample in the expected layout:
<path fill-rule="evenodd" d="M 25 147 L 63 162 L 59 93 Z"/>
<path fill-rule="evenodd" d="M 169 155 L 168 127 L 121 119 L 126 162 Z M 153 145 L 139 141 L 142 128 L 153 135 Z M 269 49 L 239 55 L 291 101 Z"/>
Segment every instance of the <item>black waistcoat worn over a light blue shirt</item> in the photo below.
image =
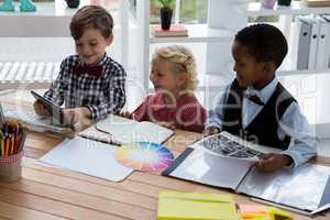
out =
<path fill-rule="evenodd" d="M 296 100 L 282 84 L 278 82 L 275 91 L 265 103 L 264 108 L 253 121 L 243 129 L 243 92 L 244 90 L 239 86 L 239 82 L 235 79 L 231 84 L 228 101 L 223 108 L 222 131 L 228 131 L 257 144 L 286 150 L 290 143 L 290 138 L 285 136 L 284 140 L 279 140 L 277 136 L 277 128 L 287 107 Z"/>

